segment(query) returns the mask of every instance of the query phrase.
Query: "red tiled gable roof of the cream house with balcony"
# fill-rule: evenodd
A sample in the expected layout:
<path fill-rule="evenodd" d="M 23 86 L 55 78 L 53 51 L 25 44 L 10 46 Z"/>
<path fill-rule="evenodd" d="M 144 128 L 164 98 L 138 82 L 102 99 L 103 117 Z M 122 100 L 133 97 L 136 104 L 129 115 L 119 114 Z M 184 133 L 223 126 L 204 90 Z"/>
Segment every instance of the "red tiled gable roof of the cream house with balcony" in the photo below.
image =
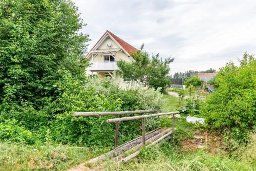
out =
<path fill-rule="evenodd" d="M 96 44 L 93 46 L 93 48 L 90 50 L 90 52 L 95 48 L 95 46 L 98 44 L 98 42 L 105 36 L 106 33 L 109 33 L 117 42 L 118 44 L 129 54 L 131 55 L 132 52 L 136 52 L 137 49 L 134 48 L 132 45 L 128 44 L 126 41 L 122 40 L 115 34 L 111 33 L 109 30 L 107 30 L 100 39 L 96 42 Z M 88 53 L 89 54 L 89 53 Z M 86 56 L 88 56 L 88 54 Z"/>

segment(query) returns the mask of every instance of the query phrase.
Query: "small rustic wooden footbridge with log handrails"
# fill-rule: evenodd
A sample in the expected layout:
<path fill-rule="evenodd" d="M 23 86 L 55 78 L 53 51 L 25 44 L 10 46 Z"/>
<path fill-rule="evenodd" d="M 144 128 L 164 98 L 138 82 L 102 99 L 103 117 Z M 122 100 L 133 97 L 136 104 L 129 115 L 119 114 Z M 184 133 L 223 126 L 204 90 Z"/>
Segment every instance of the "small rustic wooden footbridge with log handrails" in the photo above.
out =
<path fill-rule="evenodd" d="M 122 112 L 75 112 L 73 114 L 74 117 L 84 117 L 84 116 L 102 116 L 102 115 L 115 115 L 115 118 L 108 119 L 106 122 L 108 123 L 115 123 L 116 127 L 116 136 L 115 136 L 115 146 L 116 148 L 112 151 L 102 154 L 98 157 L 90 159 L 85 163 L 78 165 L 76 168 L 71 168 L 71 170 L 82 170 L 80 168 L 84 167 L 84 165 L 92 165 L 97 164 L 99 162 L 103 162 L 105 159 L 111 159 L 117 162 L 127 162 L 134 157 L 139 155 L 140 148 L 144 146 L 151 146 L 154 144 L 159 144 L 164 139 L 172 139 L 174 137 L 174 121 L 175 117 L 180 118 L 178 111 L 174 112 L 166 112 L 166 113 L 159 113 L 161 110 L 140 110 L 140 111 L 122 111 Z M 119 115 L 130 115 L 130 114 L 145 114 L 145 113 L 155 113 L 155 114 L 148 114 L 148 115 L 139 115 L 139 116 L 131 116 L 131 117 L 120 117 Z M 170 127 L 159 127 L 149 133 L 145 131 L 145 119 L 151 117 L 158 117 L 158 116 L 166 116 L 172 115 L 169 118 L 172 118 L 172 128 Z M 120 121 L 128 121 L 128 120 L 135 120 L 135 119 L 142 119 L 142 126 L 141 132 L 142 136 L 133 139 L 129 142 L 126 142 L 122 145 L 118 146 L 118 122 Z M 131 152 L 133 152 L 131 154 Z M 93 170 L 98 170 L 102 164 L 96 166 Z"/>

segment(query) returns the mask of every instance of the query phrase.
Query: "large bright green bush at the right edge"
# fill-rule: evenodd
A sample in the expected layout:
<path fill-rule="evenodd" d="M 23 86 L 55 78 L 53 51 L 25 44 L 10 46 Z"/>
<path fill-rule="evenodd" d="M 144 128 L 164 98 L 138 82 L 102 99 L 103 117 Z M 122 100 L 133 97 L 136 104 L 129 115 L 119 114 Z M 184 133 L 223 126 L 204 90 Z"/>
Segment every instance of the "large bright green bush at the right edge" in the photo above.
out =
<path fill-rule="evenodd" d="M 238 142 L 256 123 L 256 61 L 247 53 L 239 61 L 239 67 L 230 61 L 220 69 L 217 87 L 202 106 L 206 122 Z"/>

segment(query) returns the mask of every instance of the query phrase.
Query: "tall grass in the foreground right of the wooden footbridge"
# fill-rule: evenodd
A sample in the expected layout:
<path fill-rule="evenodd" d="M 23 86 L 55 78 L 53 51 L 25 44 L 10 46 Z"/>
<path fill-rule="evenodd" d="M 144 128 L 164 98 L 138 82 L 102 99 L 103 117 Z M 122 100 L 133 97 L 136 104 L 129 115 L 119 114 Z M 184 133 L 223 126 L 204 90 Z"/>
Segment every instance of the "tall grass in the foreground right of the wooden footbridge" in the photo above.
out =
<path fill-rule="evenodd" d="M 142 150 L 128 163 L 109 162 L 106 170 L 255 170 L 253 165 L 200 149 L 191 154 L 177 152 L 168 142 Z"/>

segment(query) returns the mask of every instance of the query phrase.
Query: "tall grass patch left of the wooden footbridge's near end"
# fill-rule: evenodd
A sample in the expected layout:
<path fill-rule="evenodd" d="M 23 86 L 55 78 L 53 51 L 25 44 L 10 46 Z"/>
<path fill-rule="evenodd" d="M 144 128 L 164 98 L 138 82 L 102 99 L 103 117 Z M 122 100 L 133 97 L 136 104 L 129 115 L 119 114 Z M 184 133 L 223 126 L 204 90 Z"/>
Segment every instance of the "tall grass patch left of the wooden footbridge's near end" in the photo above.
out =
<path fill-rule="evenodd" d="M 0 170 L 65 170 L 103 151 L 73 145 L 0 142 Z"/>

